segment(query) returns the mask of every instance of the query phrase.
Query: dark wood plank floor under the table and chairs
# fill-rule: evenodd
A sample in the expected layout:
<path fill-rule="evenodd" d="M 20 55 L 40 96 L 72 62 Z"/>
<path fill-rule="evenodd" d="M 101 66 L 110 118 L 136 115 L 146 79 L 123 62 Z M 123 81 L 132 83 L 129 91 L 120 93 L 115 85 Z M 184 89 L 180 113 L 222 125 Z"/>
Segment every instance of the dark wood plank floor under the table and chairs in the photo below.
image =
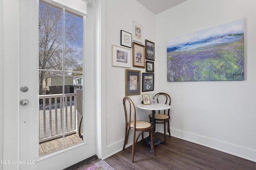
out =
<path fill-rule="evenodd" d="M 162 133 L 156 137 L 164 139 Z M 168 145 L 155 147 L 156 156 L 150 153 L 148 144 L 139 142 L 136 146 L 134 163 L 132 146 L 120 151 L 104 161 L 115 170 L 256 170 L 256 162 L 225 152 L 167 137 Z"/>

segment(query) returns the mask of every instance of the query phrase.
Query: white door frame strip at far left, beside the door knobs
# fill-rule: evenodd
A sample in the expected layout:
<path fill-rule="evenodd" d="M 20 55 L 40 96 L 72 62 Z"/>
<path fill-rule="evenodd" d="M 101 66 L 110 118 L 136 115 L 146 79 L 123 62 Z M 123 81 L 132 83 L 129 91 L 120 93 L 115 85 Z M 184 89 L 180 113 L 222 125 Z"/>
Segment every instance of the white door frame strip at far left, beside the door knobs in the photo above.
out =
<path fill-rule="evenodd" d="M 3 160 L 19 160 L 19 39 L 18 0 L 2 0 L 3 4 L 3 55 L 4 55 L 4 119 Z M 10 31 L 12 30 L 12 31 Z M 10 67 L 12 66 L 12 67 Z M 10 83 L 11 82 L 11 83 Z M 3 169 L 18 169 L 18 164 L 2 164 Z"/>

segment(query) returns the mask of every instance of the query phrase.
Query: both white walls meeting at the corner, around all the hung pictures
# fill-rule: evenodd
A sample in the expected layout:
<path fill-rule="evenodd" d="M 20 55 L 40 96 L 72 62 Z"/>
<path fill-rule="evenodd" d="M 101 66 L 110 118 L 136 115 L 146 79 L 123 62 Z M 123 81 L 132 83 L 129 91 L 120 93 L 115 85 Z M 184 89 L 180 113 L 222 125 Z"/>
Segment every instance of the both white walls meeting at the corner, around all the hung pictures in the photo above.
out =
<path fill-rule="evenodd" d="M 188 0 L 154 15 L 135 0 L 107 0 L 102 6 L 101 63 L 102 158 L 122 150 L 124 142 L 125 68 L 112 66 L 112 45 L 120 46 L 120 29 L 132 33 L 132 21 L 143 25 L 144 39 L 155 43 L 155 90 L 172 97 L 171 134 L 256 161 L 255 39 L 256 1 Z M 244 81 L 167 82 L 166 41 L 235 20 L 244 19 Z M 104 63 L 104 64 L 103 64 Z M 130 68 L 141 70 L 141 68 Z M 143 93 L 145 94 L 145 93 Z M 130 96 L 135 104 L 141 96 Z M 141 119 L 147 114 L 137 109 Z M 158 126 L 157 131 L 163 132 Z M 129 142 L 129 144 L 131 144 Z"/>

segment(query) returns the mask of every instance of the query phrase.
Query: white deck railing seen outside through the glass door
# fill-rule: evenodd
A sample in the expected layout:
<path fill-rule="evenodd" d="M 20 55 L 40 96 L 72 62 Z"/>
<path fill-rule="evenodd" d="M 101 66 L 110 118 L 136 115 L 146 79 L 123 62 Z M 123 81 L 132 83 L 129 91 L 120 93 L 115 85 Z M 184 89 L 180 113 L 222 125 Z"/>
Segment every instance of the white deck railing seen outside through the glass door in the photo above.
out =
<path fill-rule="evenodd" d="M 63 133 L 78 133 L 76 94 L 64 94 L 64 101 L 62 97 L 62 94 L 39 95 L 39 143 L 62 137 Z"/>

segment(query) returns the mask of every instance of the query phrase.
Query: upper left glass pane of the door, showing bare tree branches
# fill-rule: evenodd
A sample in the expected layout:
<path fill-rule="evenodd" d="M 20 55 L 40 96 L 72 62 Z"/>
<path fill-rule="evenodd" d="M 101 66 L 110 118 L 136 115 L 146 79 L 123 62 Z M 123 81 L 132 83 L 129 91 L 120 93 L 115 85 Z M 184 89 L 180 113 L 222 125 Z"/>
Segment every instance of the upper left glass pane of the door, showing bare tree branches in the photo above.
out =
<path fill-rule="evenodd" d="M 39 2 L 39 69 L 62 70 L 63 12 Z"/>

